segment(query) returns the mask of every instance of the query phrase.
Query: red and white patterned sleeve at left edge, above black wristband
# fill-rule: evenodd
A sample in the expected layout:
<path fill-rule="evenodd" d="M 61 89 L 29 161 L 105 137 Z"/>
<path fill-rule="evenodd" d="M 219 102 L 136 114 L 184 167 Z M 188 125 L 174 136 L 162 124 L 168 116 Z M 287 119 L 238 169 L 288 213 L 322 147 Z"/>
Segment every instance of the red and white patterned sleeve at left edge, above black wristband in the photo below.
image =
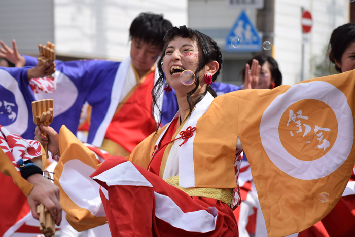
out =
<path fill-rule="evenodd" d="M 20 167 L 17 164 L 19 159 L 27 161 L 42 155 L 40 142 L 34 140 L 25 140 L 19 135 L 10 133 L 9 130 L 1 125 L 0 148 L 9 157 L 17 171 L 20 171 Z"/>

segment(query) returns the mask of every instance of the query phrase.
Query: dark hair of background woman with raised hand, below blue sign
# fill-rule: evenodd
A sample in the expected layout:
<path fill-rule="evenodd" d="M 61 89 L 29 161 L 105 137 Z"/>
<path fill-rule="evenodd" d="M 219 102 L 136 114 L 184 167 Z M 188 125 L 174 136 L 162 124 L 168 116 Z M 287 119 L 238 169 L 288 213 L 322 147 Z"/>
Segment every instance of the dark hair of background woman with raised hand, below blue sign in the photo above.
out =
<path fill-rule="evenodd" d="M 273 59 L 271 56 L 265 55 L 265 54 L 259 54 L 251 58 L 247 64 L 249 66 L 252 66 L 253 59 L 258 60 L 259 65 L 263 66 L 265 62 L 269 63 L 270 66 L 270 72 L 271 72 L 271 78 L 274 78 L 274 83 L 275 87 L 278 87 L 282 84 L 282 74 L 280 70 L 278 69 L 278 64 L 275 59 Z M 243 82 L 245 81 L 245 67 L 244 69 L 240 72 L 243 76 Z M 271 89 L 271 88 L 270 88 Z"/>

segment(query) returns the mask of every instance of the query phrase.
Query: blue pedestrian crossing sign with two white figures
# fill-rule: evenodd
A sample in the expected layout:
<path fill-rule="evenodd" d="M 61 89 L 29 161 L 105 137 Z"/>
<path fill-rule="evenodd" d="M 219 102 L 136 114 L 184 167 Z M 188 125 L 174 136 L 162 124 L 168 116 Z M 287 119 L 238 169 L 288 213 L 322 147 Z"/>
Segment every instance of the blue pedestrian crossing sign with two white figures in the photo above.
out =
<path fill-rule="evenodd" d="M 240 41 L 239 41 L 239 39 Z M 243 10 L 226 37 L 226 51 L 260 51 L 261 38 Z"/>

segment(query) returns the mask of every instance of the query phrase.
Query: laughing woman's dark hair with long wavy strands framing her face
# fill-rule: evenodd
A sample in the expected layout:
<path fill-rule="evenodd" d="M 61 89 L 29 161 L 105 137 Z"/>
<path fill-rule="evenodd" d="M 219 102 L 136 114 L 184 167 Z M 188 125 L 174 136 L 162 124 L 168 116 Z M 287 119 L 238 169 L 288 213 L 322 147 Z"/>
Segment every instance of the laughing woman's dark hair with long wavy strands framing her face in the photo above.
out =
<path fill-rule="evenodd" d="M 159 78 L 158 78 L 157 82 L 155 83 L 154 88 L 152 90 L 152 97 L 153 97 L 152 113 L 153 113 L 153 116 L 157 115 L 160 118 L 159 124 L 161 123 L 161 111 L 160 111 L 157 103 L 158 103 L 158 98 L 161 96 L 162 89 L 165 86 L 165 79 L 164 79 L 165 75 L 164 75 L 164 71 L 163 71 L 163 61 L 164 61 L 166 48 L 168 47 L 168 44 L 170 43 L 170 41 L 172 41 L 175 37 L 189 38 L 189 39 L 192 39 L 193 41 L 196 41 L 197 45 L 199 47 L 199 51 L 201 51 L 201 53 L 199 55 L 200 62 L 198 63 L 197 70 L 194 72 L 195 73 L 195 82 L 194 82 L 195 88 L 187 94 L 187 102 L 190 107 L 188 117 L 191 115 L 192 111 L 194 110 L 195 105 L 199 101 L 201 101 L 203 99 L 203 97 L 207 94 L 207 91 L 209 93 L 211 93 L 211 95 L 213 97 L 217 96 L 214 89 L 212 89 L 211 87 L 207 87 L 207 90 L 204 93 L 202 93 L 196 101 L 194 101 L 191 98 L 191 95 L 196 92 L 198 85 L 200 84 L 200 78 L 198 76 L 198 72 L 201 71 L 207 63 L 212 62 L 212 61 L 217 61 L 220 66 L 219 69 L 217 70 L 217 72 L 212 76 L 213 82 L 216 81 L 217 76 L 220 74 L 220 71 L 222 68 L 222 62 L 223 62 L 220 47 L 218 47 L 217 43 L 212 38 L 210 38 L 209 36 L 199 32 L 197 30 L 188 28 L 185 25 L 180 26 L 180 27 L 173 27 L 166 33 L 166 35 L 164 37 L 164 47 L 163 47 L 162 56 L 159 58 L 158 63 L 157 63 Z M 154 113 L 158 113 L 158 114 L 154 114 Z"/>

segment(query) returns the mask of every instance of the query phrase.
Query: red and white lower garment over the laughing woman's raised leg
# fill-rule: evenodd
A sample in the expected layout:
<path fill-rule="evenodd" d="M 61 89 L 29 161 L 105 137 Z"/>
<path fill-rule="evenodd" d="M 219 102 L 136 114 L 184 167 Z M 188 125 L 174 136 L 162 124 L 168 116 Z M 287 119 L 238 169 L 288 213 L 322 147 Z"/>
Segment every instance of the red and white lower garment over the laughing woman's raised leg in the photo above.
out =
<path fill-rule="evenodd" d="M 111 157 L 90 177 L 101 185 L 112 236 L 238 236 L 227 204 L 191 197 L 124 157 Z"/>

